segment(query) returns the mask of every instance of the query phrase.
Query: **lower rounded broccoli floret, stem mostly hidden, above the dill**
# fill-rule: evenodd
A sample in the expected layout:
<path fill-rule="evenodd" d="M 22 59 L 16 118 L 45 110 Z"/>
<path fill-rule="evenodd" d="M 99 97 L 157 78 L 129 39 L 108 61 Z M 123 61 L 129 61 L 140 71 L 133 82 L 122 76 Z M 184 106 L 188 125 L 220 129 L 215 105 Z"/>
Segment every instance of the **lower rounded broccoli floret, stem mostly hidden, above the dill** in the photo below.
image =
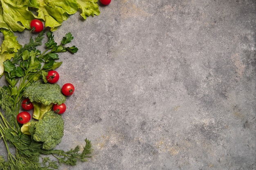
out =
<path fill-rule="evenodd" d="M 46 112 L 43 119 L 32 121 L 32 138 L 35 141 L 42 142 L 44 150 L 51 150 L 55 148 L 64 135 L 64 121 L 61 115 L 54 113 L 54 111 Z"/>

